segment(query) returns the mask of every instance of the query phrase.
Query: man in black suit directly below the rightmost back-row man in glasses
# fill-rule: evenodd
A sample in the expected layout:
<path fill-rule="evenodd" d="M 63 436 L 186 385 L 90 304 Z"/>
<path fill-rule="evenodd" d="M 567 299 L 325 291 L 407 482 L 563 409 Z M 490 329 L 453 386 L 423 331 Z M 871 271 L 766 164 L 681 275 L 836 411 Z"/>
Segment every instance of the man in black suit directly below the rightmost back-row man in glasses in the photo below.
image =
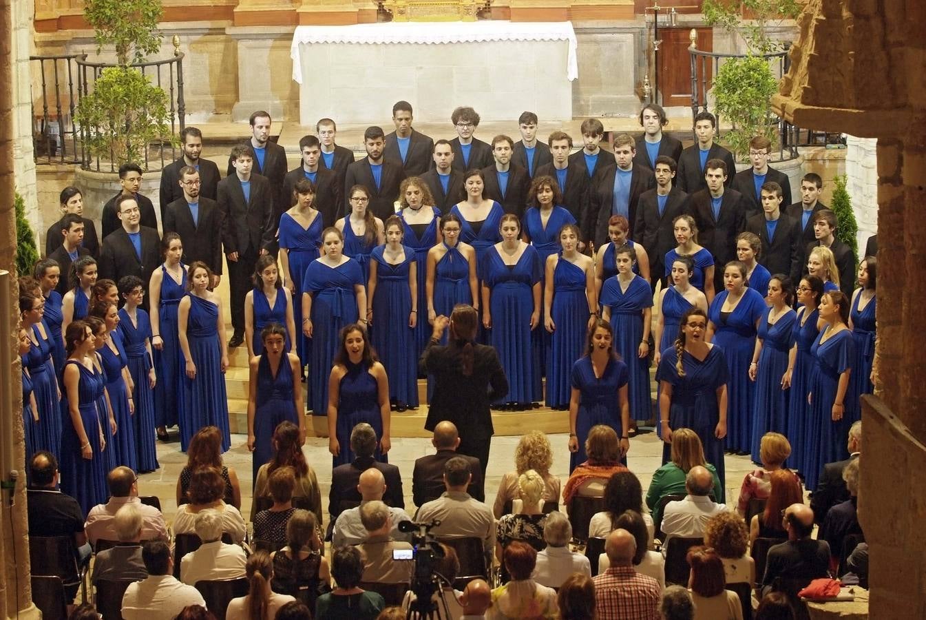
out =
<path fill-rule="evenodd" d="M 800 228 L 782 213 L 782 199 L 781 185 L 773 181 L 762 185 L 762 213 L 746 220 L 746 232 L 762 242 L 759 264 L 772 275 L 783 273 L 796 282 L 801 275 Z"/>

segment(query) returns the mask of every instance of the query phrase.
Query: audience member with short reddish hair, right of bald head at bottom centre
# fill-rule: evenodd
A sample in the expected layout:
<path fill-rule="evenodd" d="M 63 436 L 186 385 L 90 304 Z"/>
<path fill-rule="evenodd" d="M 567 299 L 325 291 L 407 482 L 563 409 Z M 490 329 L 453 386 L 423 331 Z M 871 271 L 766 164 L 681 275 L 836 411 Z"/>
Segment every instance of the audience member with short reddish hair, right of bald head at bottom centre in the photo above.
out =
<path fill-rule="evenodd" d="M 557 592 L 536 583 L 531 575 L 537 561 L 537 551 L 520 540 L 505 548 L 503 562 L 511 581 L 492 590 L 492 607 L 485 617 L 556 618 Z"/>

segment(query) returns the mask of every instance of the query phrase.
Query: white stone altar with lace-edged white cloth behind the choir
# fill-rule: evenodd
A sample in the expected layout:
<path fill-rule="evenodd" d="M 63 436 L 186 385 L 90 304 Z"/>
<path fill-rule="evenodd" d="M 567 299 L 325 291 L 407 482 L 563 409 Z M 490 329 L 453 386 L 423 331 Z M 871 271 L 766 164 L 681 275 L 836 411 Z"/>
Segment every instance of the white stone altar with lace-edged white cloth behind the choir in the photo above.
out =
<path fill-rule="evenodd" d="M 403 99 L 420 122 L 449 125 L 457 106 L 482 120 L 517 120 L 524 110 L 571 120 L 576 53 L 568 21 L 299 26 L 290 48 L 306 126 L 324 117 L 385 122 Z"/>

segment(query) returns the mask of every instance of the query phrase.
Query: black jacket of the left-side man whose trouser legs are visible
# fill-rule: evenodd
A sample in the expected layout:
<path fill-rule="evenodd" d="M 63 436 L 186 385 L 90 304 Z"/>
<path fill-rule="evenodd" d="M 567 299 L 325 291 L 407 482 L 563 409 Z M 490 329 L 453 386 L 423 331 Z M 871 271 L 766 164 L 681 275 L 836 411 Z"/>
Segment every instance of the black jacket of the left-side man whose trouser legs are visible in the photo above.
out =
<path fill-rule="evenodd" d="M 273 220 L 273 198 L 266 177 L 251 174 L 251 200 L 244 203 L 244 190 L 236 173 L 219 181 L 219 211 L 222 220 L 224 252 L 244 254 L 253 248 L 270 251 L 275 244 L 277 228 Z"/>

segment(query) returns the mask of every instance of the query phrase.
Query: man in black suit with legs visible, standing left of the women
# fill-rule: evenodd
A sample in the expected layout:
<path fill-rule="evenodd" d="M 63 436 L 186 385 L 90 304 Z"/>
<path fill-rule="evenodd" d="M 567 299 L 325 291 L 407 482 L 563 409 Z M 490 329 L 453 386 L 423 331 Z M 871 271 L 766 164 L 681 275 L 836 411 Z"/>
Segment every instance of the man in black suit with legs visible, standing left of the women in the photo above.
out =
<path fill-rule="evenodd" d="M 257 257 L 268 254 L 277 229 L 273 220 L 273 196 L 266 177 L 252 172 L 250 145 L 232 148 L 234 174 L 219 181 L 222 246 L 229 265 L 232 291 L 232 326 L 229 347 L 244 342 L 244 297 L 251 290 Z"/>

